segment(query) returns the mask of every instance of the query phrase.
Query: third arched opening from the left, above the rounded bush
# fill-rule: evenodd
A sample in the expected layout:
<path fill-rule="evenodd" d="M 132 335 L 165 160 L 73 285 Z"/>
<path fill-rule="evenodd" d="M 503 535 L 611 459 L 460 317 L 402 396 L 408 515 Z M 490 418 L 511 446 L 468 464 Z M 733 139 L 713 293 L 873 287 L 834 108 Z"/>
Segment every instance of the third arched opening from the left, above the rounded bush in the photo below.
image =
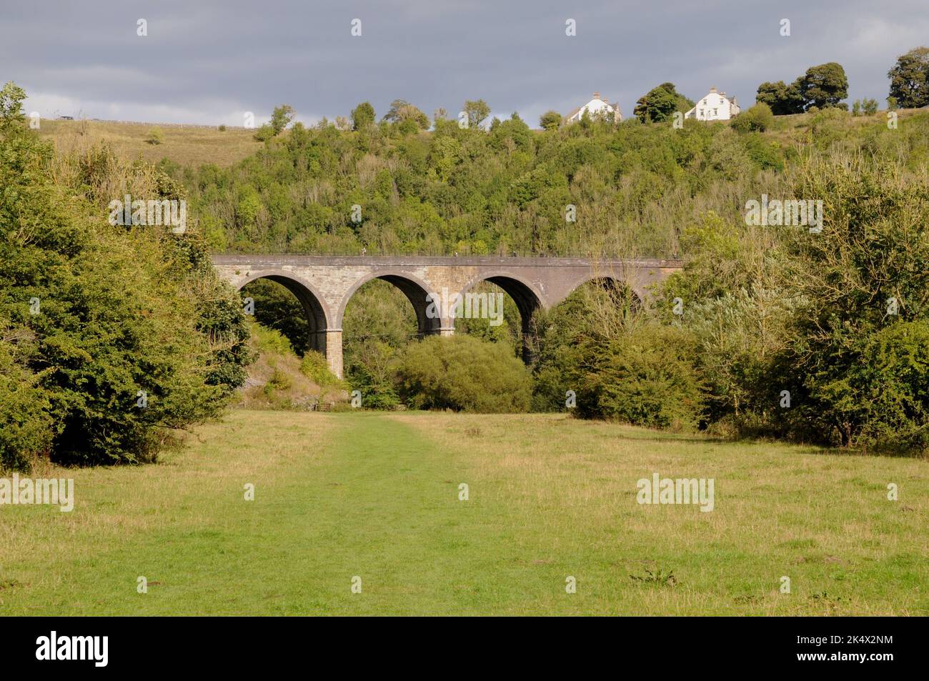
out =
<path fill-rule="evenodd" d="M 472 296 L 470 303 L 467 297 L 469 294 Z M 466 313 L 471 313 L 471 319 L 468 319 L 467 316 L 465 316 L 464 319 L 456 319 L 455 329 L 461 329 L 464 330 L 464 333 L 471 334 L 474 334 L 478 330 L 481 334 L 487 333 L 485 327 L 493 321 L 492 319 L 487 321 L 475 320 L 475 308 L 477 307 L 478 310 L 487 309 L 489 312 L 500 311 L 501 308 L 499 308 L 499 304 L 501 302 L 501 296 L 503 295 L 502 312 L 504 322 L 507 323 L 509 328 L 513 329 L 514 334 L 516 334 L 516 330 L 518 329 L 519 340 L 517 341 L 517 347 L 520 348 L 519 354 L 522 356 L 523 361 L 530 364 L 534 354 L 533 339 L 535 337 L 535 331 L 533 319 L 536 311 L 542 308 L 541 295 L 539 295 L 530 284 L 521 282 L 514 277 L 504 274 L 482 277 L 475 282 L 471 282 L 464 286 L 462 295 L 464 298 L 464 308 Z M 488 298 L 487 303 L 489 303 L 489 305 L 484 308 L 482 306 L 483 299 L 480 297 L 482 295 L 495 295 L 497 297 L 495 300 Z M 506 304 L 507 299 L 511 302 L 510 306 Z M 476 302 L 477 306 L 475 305 Z M 490 305 L 490 303 L 494 303 L 494 305 Z M 506 310 L 507 308 L 512 309 L 513 307 L 515 307 L 519 313 L 518 324 L 513 324 L 507 319 Z"/>

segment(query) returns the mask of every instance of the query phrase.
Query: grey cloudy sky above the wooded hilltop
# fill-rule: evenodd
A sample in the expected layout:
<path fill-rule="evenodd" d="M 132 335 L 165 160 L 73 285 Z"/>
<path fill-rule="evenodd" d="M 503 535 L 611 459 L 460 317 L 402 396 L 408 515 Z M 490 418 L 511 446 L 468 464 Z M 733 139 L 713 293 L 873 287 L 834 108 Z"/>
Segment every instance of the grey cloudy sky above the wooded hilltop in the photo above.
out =
<path fill-rule="evenodd" d="M 137 35 L 139 20 L 147 35 Z M 360 36 L 352 21 L 360 20 Z M 566 35 L 566 21 L 577 34 Z M 791 35 L 780 35 L 790 20 Z M 751 105 L 759 83 L 838 61 L 849 100 L 929 44 L 927 0 L 30 0 L 0 7 L 0 79 L 44 117 L 257 123 L 289 103 L 307 123 L 365 99 L 452 115 L 484 98 L 532 125 L 599 91 L 624 116 L 671 81 Z"/>

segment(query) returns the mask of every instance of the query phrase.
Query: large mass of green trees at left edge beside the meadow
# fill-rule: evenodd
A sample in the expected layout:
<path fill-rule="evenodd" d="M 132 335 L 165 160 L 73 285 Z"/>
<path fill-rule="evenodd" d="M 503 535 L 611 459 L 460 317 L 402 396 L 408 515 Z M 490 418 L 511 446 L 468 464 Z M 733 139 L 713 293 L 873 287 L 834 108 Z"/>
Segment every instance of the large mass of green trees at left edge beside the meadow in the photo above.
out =
<path fill-rule="evenodd" d="M 104 218 L 112 196 L 176 199 L 170 178 L 106 148 L 54 156 L 25 126 L 17 89 L 0 97 L 0 320 L 11 330 L 0 389 L 19 376 L 2 418 L 27 395 L 38 413 L 14 417 L 4 462 L 39 451 L 70 464 L 152 458 L 242 383 L 241 310 L 192 226 L 175 235 Z"/>

